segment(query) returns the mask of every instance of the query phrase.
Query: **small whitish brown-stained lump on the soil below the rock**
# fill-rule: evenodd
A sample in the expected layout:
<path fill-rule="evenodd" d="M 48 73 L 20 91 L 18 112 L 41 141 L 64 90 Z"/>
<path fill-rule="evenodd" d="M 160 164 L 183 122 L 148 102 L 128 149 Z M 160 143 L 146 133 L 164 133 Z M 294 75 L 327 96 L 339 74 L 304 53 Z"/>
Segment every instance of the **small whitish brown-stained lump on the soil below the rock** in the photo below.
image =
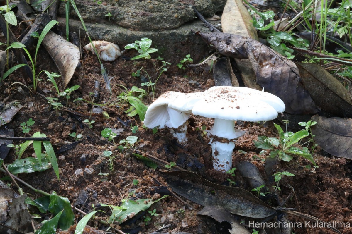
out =
<path fill-rule="evenodd" d="M 99 58 L 103 61 L 112 62 L 121 55 L 120 47 L 108 41 L 92 41 L 93 45 L 98 52 Z M 92 44 L 84 46 L 87 51 L 94 53 Z"/>

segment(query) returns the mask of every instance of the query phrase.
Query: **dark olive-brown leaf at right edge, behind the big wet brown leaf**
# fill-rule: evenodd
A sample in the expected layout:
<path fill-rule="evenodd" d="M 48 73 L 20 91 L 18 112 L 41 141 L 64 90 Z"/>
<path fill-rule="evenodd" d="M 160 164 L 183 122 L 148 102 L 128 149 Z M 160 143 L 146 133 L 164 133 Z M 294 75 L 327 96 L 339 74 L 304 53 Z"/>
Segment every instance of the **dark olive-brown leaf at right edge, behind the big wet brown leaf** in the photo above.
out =
<path fill-rule="evenodd" d="M 352 118 L 352 100 L 345 87 L 315 63 L 297 63 L 304 87 L 322 110 L 340 117 Z"/>

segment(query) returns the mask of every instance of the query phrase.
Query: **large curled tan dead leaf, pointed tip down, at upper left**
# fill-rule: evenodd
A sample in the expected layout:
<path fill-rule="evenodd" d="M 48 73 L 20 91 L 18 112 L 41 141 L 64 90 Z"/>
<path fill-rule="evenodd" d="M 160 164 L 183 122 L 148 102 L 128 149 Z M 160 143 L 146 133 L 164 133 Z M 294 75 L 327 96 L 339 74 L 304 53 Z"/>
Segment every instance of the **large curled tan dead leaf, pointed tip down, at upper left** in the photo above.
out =
<path fill-rule="evenodd" d="M 43 44 L 61 73 L 65 88 L 80 61 L 80 49 L 53 32 L 46 34 Z"/>

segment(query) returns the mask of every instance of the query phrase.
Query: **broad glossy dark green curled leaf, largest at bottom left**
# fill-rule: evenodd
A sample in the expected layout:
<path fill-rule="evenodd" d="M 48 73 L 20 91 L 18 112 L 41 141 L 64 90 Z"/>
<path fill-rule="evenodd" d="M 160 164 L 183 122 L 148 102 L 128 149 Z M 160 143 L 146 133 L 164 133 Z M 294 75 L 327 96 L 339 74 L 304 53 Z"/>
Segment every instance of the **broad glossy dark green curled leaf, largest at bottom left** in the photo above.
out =
<path fill-rule="evenodd" d="M 50 195 L 49 211 L 54 215 L 63 212 L 58 221 L 58 227 L 62 230 L 67 230 L 73 225 L 75 215 L 72 211 L 70 201 L 63 196 L 57 195 L 55 191 Z"/>

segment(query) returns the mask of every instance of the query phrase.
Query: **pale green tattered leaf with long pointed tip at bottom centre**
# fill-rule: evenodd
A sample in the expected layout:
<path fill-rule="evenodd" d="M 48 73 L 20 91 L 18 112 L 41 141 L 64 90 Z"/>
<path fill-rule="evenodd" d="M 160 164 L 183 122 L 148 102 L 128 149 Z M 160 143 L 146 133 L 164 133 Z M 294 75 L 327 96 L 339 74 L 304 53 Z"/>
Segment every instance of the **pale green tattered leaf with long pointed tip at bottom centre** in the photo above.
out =
<path fill-rule="evenodd" d="M 147 210 L 153 203 L 166 198 L 168 195 L 164 195 L 157 200 L 152 199 L 140 199 L 136 201 L 132 201 L 129 199 L 122 200 L 121 207 L 125 209 L 117 210 L 118 213 L 114 213 L 109 218 L 109 223 L 117 222 L 117 224 L 121 224 L 125 222 L 127 219 L 131 219 L 134 215 L 138 214 L 142 210 Z"/>

